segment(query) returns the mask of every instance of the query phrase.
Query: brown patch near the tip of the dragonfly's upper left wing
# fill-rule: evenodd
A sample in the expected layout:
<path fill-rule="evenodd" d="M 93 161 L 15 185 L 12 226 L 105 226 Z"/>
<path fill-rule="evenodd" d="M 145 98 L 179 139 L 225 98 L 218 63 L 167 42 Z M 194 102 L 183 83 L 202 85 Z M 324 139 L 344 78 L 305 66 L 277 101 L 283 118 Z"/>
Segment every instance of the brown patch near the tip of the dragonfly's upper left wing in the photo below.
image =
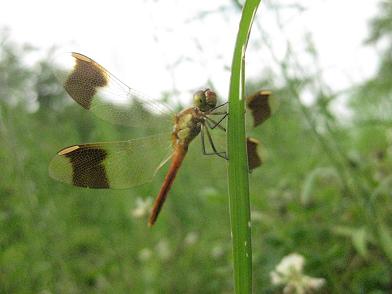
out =
<path fill-rule="evenodd" d="M 108 84 L 108 76 L 99 64 L 87 56 L 73 52 L 72 57 L 75 58 L 75 65 L 64 82 L 64 88 L 77 103 L 89 109 L 97 88 Z"/>

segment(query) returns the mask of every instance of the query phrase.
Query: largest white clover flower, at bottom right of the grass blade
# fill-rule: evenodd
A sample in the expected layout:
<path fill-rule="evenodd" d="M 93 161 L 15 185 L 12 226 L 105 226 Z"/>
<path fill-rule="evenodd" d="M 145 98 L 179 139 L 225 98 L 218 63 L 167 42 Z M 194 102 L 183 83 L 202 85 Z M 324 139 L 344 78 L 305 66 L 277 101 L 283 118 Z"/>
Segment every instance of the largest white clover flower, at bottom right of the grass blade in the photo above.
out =
<path fill-rule="evenodd" d="M 303 273 L 305 259 L 302 255 L 292 253 L 285 256 L 270 273 L 271 283 L 284 286 L 283 293 L 313 293 L 320 289 L 325 280 L 313 278 Z"/>

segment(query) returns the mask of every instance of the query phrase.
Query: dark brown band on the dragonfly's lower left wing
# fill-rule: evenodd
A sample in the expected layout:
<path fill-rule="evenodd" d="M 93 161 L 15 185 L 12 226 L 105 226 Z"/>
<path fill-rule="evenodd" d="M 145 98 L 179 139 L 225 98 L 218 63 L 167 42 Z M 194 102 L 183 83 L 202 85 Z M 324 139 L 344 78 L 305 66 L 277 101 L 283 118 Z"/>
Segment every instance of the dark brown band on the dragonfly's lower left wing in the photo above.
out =
<path fill-rule="evenodd" d="M 109 188 L 104 166 L 107 152 L 100 148 L 83 147 L 64 154 L 72 165 L 72 183 L 79 187 Z"/>

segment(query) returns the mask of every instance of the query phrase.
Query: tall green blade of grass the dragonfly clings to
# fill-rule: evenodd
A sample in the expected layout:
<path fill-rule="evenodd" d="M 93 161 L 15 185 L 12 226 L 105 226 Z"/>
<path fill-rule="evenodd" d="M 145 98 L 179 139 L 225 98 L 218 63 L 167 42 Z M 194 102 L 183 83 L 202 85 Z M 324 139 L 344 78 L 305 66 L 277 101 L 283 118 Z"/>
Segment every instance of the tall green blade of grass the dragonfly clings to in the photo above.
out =
<path fill-rule="evenodd" d="M 252 293 L 252 244 L 244 115 L 244 60 L 253 18 L 259 3 L 260 0 L 248 0 L 242 10 L 229 90 L 227 150 L 235 293 Z"/>

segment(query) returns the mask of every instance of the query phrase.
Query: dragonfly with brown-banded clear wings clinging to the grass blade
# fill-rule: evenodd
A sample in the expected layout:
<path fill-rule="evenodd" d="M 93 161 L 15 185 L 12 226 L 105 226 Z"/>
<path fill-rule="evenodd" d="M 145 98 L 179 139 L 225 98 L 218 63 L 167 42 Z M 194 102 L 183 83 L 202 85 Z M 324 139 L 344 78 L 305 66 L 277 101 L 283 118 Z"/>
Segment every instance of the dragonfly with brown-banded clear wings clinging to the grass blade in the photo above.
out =
<path fill-rule="evenodd" d="M 55 180 L 85 188 L 126 189 L 150 182 L 157 171 L 171 161 L 148 219 L 148 225 L 153 226 L 188 147 L 197 136 L 201 137 L 204 155 L 228 160 L 226 151 L 218 150 L 211 135 L 211 130 L 226 131 L 222 122 L 228 117 L 227 103 L 217 105 L 217 95 L 211 89 L 196 91 L 193 106 L 173 114 L 162 101 L 146 98 L 81 53 L 71 52 L 62 56 L 61 65 L 65 67 L 56 76 L 65 91 L 97 117 L 135 128 L 156 126 L 157 120 L 170 116 L 173 121 L 171 131 L 126 141 L 77 144 L 63 148 L 49 164 L 49 174 Z M 264 100 L 267 97 L 268 100 L 269 94 L 263 95 L 260 92 L 253 96 L 264 97 Z M 248 103 L 253 114 L 258 112 L 259 100 L 249 100 L 253 101 L 253 106 Z M 268 115 L 268 111 L 264 111 L 262 119 Z M 256 152 L 257 145 L 256 140 L 248 139 L 251 168 L 261 164 Z"/>

